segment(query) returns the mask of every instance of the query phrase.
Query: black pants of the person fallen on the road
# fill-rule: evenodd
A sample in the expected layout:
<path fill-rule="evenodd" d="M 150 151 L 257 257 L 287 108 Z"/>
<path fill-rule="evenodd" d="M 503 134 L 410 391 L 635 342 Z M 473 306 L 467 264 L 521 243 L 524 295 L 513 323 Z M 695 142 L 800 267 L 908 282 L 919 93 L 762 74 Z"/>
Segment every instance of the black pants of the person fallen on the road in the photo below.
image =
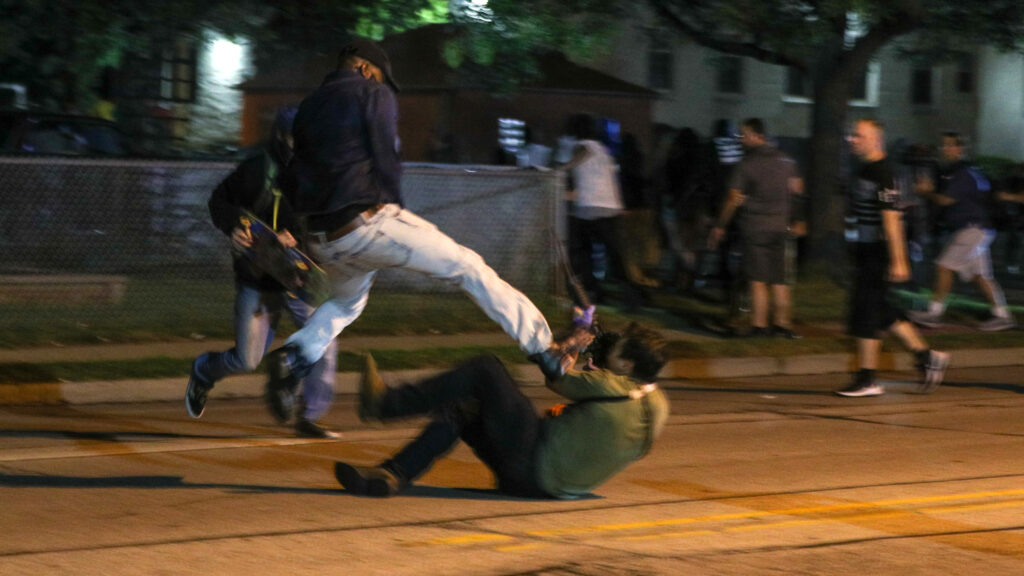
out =
<path fill-rule="evenodd" d="M 494 356 L 389 388 L 381 403 L 384 419 L 431 414 L 430 423 L 384 466 L 412 482 L 461 439 L 498 479 L 502 492 L 546 497 L 537 485 L 534 455 L 542 420 L 532 403 Z"/>

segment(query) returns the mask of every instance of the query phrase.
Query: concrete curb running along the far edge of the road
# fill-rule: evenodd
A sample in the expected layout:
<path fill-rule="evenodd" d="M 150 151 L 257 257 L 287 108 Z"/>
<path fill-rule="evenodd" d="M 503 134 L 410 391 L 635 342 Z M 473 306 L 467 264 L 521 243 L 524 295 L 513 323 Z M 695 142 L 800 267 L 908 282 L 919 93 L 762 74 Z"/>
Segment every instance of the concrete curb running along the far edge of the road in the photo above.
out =
<path fill-rule="evenodd" d="M 951 368 L 988 368 L 1024 365 L 1024 348 L 951 351 Z M 670 362 L 662 370 L 665 380 L 728 379 L 757 376 L 798 376 L 851 372 L 856 368 L 853 354 L 825 354 L 801 357 L 758 358 L 683 358 Z M 537 367 L 518 364 L 510 367 L 521 385 L 544 384 Z M 883 354 L 880 370 L 912 371 L 913 358 L 906 353 Z M 439 369 L 399 370 L 384 372 L 385 379 L 416 381 L 440 372 Z M 265 382 L 263 374 L 232 376 L 219 382 L 211 398 L 260 398 Z M 355 394 L 357 372 L 339 372 L 335 377 L 335 393 Z M 44 382 L 0 384 L 0 406 L 30 404 L 105 404 L 133 402 L 184 402 L 185 378 L 153 378 L 145 380 L 101 380 L 90 382 Z"/>

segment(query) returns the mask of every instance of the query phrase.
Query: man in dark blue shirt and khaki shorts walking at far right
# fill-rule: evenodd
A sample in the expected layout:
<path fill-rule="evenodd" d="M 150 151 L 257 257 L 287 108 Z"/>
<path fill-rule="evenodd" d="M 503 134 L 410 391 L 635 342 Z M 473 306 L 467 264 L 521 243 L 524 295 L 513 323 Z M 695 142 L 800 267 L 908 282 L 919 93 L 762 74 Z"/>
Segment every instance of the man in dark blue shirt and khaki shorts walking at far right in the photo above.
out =
<path fill-rule="evenodd" d="M 942 210 L 942 217 L 951 232 L 949 243 L 936 260 L 935 289 L 927 312 L 907 313 L 921 326 L 942 325 L 946 296 L 953 285 L 953 273 L 964 282 L 974 281 L 991 304 L 991 318 L 978 325 L 980 330 L 1009 330 L 1017 324 L 1007 307 L 1002 288 L 992 276 L 992 260 L 988 251 L 995 231 L 988 208 L 991 187 L 977 168 L 964 159 L 964 141 L 956 132 L 942 135 L 942 158 L 946 162 L 936 190 L 930 178 L 915 184 L 918 194 Z"/>

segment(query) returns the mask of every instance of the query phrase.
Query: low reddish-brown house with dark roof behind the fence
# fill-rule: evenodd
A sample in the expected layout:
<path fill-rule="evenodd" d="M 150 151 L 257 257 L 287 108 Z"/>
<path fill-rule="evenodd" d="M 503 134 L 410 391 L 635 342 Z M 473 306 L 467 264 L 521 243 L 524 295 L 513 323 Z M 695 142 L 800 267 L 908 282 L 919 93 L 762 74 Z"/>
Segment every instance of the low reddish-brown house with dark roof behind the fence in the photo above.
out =
<path fill-rule="evenodd" d="M 402 159 L 495 163 L 500 148 L 521 142 L 523 128 L 553 146 L 569 116 L 589 113 L 641 141 L 651 137 L 651 106 L 658 93 L 644 86 L 548 52 L 540 75 L 511 94 L 494 94 L 462 77 L 441 57 L 444 25 L 385 38 L 395 80 Z M 298 104 L 337 67 L 335 54 L 312 55 L 298 66 L 258 74 L 239 85 L 243 93 L 242 143 L 267 133 L 273 111 Z"/>

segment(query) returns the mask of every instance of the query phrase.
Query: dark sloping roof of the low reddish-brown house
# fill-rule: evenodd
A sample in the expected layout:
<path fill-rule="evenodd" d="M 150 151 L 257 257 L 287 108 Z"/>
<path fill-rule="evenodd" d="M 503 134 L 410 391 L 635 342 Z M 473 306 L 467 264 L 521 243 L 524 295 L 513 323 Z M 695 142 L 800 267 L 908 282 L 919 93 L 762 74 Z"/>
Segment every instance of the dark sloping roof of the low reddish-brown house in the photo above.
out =
<path fill-rule="evenodd" d="M 388 52 L 394 79 L 403 92 L 469 87 L 461 80 L 459 71 L 450 68 L 441 57 L 443 43 L 450 37 L 446 25 L 430 25 L 389 36 L 380 42 Z M 524 83 L 521 89 L 651 97 L 657 94 L 644 86 L 580 66 L 558 52 L 540 54 L 537 64 L 538 79 Z M 245 92 L 309 92 L 336 66 L 336 54 L 314 54 L 299 66 L 257 74 L 238 87 Z"/>

